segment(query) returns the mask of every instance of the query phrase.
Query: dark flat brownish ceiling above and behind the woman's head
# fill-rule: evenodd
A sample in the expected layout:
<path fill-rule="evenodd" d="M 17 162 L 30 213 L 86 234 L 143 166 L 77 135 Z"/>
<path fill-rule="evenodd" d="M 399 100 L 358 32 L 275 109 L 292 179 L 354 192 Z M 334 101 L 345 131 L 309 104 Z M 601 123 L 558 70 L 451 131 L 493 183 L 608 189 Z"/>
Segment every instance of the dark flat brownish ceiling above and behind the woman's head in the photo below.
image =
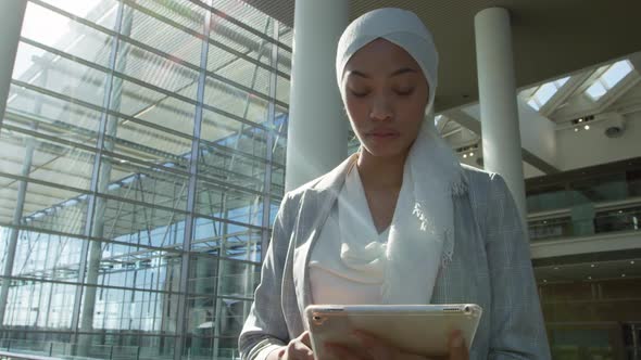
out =
<path fill-rule="evenodd" d="M 244 0 L 293 25 L 294 0 Z M 352 0 L 351 17 L 377 8 L 415 12 L 430 28 L 440 55 L 436 111 L 478 100 L 474 16 L 492 7 L 512 15 L 517 88 L 641 50 L 641 1 Z"/>

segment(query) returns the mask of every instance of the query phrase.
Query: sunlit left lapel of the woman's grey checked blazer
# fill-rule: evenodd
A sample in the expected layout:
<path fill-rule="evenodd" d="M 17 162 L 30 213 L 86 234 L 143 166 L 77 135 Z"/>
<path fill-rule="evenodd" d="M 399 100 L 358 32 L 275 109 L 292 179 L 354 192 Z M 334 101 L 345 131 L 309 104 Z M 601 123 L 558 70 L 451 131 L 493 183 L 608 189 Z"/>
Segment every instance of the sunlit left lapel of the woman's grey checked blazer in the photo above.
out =
<path fill-rule="evenodd" d="M 298 213 L 299 221 L 293 239 L 296 248 L 292 270 L 299 310 L 303 316 L 305 307 L 313 304 L 310 273 L 307 269 L 310 255 L 314 248 L 316 240 L 318 240 L 320 230 L 338 198 L 347 172 L 356 157 L 356 154 L 348 157 L 334 170 L 323 176 L 316 184 L 306 189 L 302 194 Z M 301 277 L 298 277 L 298 274 Z"/>

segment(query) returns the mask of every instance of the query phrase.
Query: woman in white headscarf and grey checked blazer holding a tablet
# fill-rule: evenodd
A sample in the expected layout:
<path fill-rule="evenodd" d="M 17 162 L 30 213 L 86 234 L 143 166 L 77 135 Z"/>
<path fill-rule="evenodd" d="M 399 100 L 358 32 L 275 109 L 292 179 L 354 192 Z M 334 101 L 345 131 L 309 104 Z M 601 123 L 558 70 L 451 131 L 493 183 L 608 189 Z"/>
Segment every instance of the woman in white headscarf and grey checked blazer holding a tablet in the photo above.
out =
<path fill-rule="evenodd" d="M 243 359 L 313 359 L 311 304 L 453 304 L 483 308 L 469 355 L 546 359 L 523 226 L 503 179 L 464 167 L 424 120 L 438 54 L 416 15 L 379 9 L 338 46 L 337 80 L 361 150 L 289 192 L 239 339 Z M 422 359 L 360 335 L 373 359 Z M 341 359 L 355 358 L 329 345 Z"/>

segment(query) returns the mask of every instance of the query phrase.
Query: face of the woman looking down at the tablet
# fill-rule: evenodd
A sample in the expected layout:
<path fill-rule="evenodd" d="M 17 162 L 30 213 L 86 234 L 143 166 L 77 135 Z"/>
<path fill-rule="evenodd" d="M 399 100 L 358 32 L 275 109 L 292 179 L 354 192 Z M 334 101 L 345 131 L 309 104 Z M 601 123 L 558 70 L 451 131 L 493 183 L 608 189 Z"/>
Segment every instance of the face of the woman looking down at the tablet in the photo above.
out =
<path fill-rule="evenodd" d="M 377 39 L 345 65 L 341 83 L 352 129 L 374 156 L 406 154 L 425 117 L 429 89 L 416 61 Z"/>

